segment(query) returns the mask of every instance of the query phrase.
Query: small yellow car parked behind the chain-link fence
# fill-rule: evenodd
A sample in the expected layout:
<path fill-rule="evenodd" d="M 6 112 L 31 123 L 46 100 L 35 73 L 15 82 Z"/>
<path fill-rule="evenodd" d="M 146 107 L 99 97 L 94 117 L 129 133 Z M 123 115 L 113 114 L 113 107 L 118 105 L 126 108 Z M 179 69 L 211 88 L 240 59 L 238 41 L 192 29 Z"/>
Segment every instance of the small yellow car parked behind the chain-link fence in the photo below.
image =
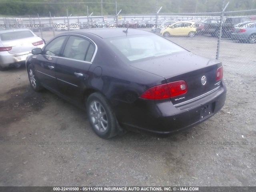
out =
<path fill-rule="evenodd" d="M 190 36 L 194 37 L 196 34 L 195 22 L 179 21 L 172 24 L 170 27 L 163 28 L 160 34 L 164 37 L 170 36 Z"/>

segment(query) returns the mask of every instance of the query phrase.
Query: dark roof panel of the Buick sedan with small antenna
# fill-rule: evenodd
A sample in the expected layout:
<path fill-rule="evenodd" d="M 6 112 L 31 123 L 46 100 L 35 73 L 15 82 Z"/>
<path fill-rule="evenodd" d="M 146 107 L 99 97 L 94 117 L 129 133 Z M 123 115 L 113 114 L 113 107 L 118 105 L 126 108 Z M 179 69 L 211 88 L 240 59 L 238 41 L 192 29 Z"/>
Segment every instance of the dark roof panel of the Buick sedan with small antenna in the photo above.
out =
<path fill-rule="evenodd" d="M 112 38 L 112 37 L 120 37 L 126 36 L 127 28 L 93 28 L 93 29 L 81 29 L 72 32 L 72 34 L 78 35 L 86 35 L 86 34 L 94 34 L 99 36 L 100 38 Z M 70 34 L 70 32 L 65 32 L 64 34 Z M 131 29 L 128 28 L 127 36 L 130 35 L 142 35 L 142 34 L 152 34 L 151 32 L 147 32 L 144 30 Z"/>

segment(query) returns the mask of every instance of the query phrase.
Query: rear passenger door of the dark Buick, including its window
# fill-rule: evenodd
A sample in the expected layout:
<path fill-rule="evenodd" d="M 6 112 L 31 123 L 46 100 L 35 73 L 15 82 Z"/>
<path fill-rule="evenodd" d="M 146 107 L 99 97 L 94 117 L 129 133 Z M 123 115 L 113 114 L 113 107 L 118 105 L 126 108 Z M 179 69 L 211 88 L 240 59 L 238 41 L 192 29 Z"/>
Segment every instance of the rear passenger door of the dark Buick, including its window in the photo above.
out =
<path fill-rule="evenodd" d="M 58 92 L 73 101 L 81 101 L 83 82 L 87 79 L 95 49 L 96 45 L 87 38 L 76 35 L 68 38 L 56 64 Z"/>

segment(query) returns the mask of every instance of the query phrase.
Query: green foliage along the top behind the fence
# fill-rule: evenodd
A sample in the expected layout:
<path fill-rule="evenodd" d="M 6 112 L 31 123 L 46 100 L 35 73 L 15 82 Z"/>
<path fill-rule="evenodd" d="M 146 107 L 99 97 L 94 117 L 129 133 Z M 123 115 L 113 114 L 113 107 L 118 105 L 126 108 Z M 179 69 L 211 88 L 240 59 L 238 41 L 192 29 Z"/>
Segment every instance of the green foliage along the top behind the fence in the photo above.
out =
<path fill-rule="evenodd" d="M 256 9 L 256 0 L 226 0 L 229 1 L 227 11 Z M 32 3 L 34 2 L 34 3 Z M 79 3 L 85 2 L 85 3 Z M 103 0 L 103 15 L 121 14 L 155 14 L 162 6 L 160 13 L 192 13 L 220 12 L 222 0 Z M 157 2 L 157 6 L 156 6 Z M 0 0 L 0 14 L 5 16 L 86 16 L 101 14 L 101 0 Z"/>

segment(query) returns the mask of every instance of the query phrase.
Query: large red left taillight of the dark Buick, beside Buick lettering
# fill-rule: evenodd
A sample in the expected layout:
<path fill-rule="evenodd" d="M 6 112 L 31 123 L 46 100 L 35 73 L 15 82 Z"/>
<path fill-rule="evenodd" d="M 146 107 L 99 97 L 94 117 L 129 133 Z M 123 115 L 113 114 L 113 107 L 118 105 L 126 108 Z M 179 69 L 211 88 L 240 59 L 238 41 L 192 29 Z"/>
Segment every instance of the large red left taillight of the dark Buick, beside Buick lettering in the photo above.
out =
<path fill-rule="evenodd" d="M 184 94 L 187 90 L 185 81 L 175 81 L 151 87 L 142 93 L 140 97 L 145 99 L 166 99 Z"/>

